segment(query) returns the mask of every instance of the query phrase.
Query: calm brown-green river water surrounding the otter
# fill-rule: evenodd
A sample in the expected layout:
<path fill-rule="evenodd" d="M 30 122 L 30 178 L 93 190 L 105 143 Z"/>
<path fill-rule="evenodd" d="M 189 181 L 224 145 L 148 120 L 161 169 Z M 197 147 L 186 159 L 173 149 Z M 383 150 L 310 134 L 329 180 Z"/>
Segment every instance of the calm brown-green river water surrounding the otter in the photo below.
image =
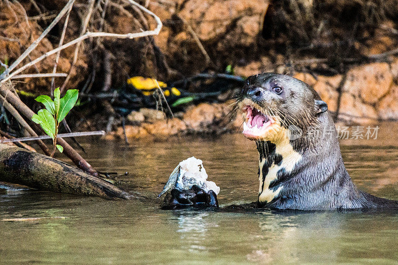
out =
<path fill-rule="evenodd" d="M 378 140 L 341 142 L 354 182 L 392 199 L 398 199 L 397 131 L 397 125 L 383 124 Z M 84 146 L 95 168 L 129 172 L 121 177 L 122 186 L 149 200 L 0 192 L 0 219 L 65 217 L 0 221 L 1 264 L 398 263 L 397 213 L 159 209 L 155 195 L 190 156 L 202 159 L 209 179 L 221 187 L 220 206 L 255 201 L 257 151 L 239 134 L 136 142 L 128 148 L 107 141 Z"/>

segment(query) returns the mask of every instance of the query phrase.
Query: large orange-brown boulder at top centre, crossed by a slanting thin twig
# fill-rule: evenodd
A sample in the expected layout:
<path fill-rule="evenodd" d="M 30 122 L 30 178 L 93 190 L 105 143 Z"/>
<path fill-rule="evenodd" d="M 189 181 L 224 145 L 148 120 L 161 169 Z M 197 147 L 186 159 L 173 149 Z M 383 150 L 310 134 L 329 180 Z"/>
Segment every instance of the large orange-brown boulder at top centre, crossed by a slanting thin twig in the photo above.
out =
<path fill-rule="evenodd" d="M 162 53 L 170 59 L 171 68 L 188 76 L 209 66 L 188 25 L 215 65 L 225 62 L 235 65 L 237 58 L 247 61 L 256 58 L 254 52 L 258 50 L 268 7 L 266 0 L 184 0 L 175 6 L 176 11 L 170 18 L 160 12 L 164 21 L 162 31 L 168 33 L 161 31 L 161 35 L 155 36 Z M 150 8 L 155 11 L 160 7 L 150 4 Z"/>

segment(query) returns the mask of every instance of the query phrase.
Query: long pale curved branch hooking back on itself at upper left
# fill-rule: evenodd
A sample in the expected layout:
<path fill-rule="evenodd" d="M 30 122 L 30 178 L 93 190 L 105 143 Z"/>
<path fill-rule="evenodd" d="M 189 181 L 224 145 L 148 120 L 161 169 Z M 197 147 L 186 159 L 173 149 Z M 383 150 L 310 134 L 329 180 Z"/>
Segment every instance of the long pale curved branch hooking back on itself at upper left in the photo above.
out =
<path fill-rule="evenodd" d="M 136 32 L 136 33 L 127 33 L 127 34 L 117 34 L 117 33 L 107 33 L 107 32 L 87 32 L 86 34 L 84 34 L 83 36 L 80 36 L 79 38 L 76 38 L 68 43 L 65 43 L 64 45 L 53 49 L 51 51 L 46 52 L 45 54 L 43 54 L 42 56 L 36 58 L 35 60 L 31 61 L 30 63 L 18 68 L 17 70 L 13 71 L 11 74 L 10 71 L 15 68 L 15 63 L 18 62 L 18 64 L 21 62 L 21 60 L 19 60 L 20 57 L 22 57 L 22 55 L 25 54 L 25 52 L 8 68 L 7 71 L 4 71 L 4 73 L 0 76 L 0 83 L 4 83 L 5 81 L 9 80 L 12 76 L 19 74 L 20 72 L 22 72 L 23 70 L 25 70 L 26 68 L 29 68 L 30 66 L 46 59 L 48 56 L 53 55 L 55 53 L 57 53 L 58 51 L 61 51 L 65 48 L 68 48 L 76 43 L 81 42 L 82 40 L 88 39 L 88 38 L 97 38 L 97 37 L 111 37 L 111 38 L 119 38 L 119 39 L 134 39 L 134 38 L 140 38 L 140 37 L 145 37 L 145 36 L 151 36 L 151 35 L 158 35 L 160 30 L 162 29 L 162 21 L 160 20 L 160 18 L 153 13 L 152 11 L 148 10 L 147 8 L 145 8 L 144 6 L 136 3 L 133 0 L 128 0 L 130 3 L 136 5 L 137 7 L 139 7 L 141 10 L 143 10 L 144 12 L 150 14 L 151 16 L 154 17 L 154 19 L 157 22 L 157 26 L 154 30 L 148 30 L 148 31 L 143 31 L 143 32 Z M 54 20 L 55 21 L 55 20 Z M 47 30 L 47 29 L 46 29 Z M 36 41 L 35 41 L 36 42 Z M 31 45 L 32 46 L 32 45 Z M 36 44 L 37 46 L 37 44 Z M 28 48 L 30 49 L 30 47 Z M 33 48 L 32 48 L 33 49 Z M 31 50 L 32 50 L 31 49 Z M 30 51 L 31 51 L 30 50 Z M 29 52 L 30 52 L 29 51 Z M 26 57 L 27 55 L 24 55 L 24 57 Z M 13 67 L 11 70 L 10 68 Z M 8 76 L 7 76 L 8 75 Z M 7 77 L 5 77 L 7 76 Z"/>

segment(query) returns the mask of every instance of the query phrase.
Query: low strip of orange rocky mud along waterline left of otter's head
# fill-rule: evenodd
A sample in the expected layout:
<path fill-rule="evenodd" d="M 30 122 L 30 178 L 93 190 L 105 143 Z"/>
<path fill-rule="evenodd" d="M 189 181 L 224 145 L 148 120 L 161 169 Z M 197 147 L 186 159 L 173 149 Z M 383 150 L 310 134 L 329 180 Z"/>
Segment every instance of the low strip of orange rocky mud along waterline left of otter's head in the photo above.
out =
<path fill-rule="evenodd" d="M 221 134 L 236 132 L 243 123 L 242 113 L 233 111 L 233 100 L 225 103 L 200 103 L 167 118 L 166 113 L 154 109 L 133 111 L 126 118 L 125 134 L 129 139 L 165 140 L 172 135 Z M 118 126 L 104 136 L 123 139 L 123 127 Z"/>

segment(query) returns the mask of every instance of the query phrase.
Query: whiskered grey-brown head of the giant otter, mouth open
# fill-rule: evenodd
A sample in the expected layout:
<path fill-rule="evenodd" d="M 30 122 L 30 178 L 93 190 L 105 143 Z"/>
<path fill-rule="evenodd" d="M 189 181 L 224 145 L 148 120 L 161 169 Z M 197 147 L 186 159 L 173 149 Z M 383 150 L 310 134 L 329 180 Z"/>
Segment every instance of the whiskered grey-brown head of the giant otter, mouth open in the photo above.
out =
<path fill-rule="evenodd" d="M 315 90 L 286 75 L 264 73 L 247 79 L 238 98 L 244 114 L 243 134 L 278 143 L 293 129 L 306 133 L 327 110 Z"/>

